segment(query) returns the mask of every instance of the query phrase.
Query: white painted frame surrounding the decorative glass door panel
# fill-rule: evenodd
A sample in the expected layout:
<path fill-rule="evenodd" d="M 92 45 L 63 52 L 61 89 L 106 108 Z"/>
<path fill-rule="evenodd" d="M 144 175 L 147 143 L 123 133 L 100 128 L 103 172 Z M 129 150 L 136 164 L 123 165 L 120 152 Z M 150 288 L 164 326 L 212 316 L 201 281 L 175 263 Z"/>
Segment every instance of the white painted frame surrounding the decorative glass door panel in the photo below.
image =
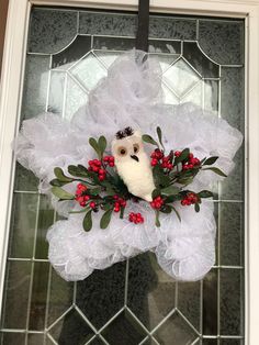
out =
<path fill-rule="evenodd" d="M 137 0 L 10 0 L 0 81 L 0 310 L 29 16 L 33 4 L 137 10 Z M 150 11 L 246 20 L 246 345 L 258 345 L 259 311 L 259 0 L 150 0 Z"/>

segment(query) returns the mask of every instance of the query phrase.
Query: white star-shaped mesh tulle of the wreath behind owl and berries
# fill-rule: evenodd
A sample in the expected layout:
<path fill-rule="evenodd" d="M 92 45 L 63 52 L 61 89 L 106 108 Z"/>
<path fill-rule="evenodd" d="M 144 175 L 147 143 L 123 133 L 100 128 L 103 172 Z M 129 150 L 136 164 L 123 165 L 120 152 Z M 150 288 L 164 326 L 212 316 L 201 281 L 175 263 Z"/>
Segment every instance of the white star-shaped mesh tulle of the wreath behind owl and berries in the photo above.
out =
<path fill-rule="evenodd" d="M 23 122 L 14 149 L 18 160 L 40 178 L 41 192 L 49 193 L 54 167 L 66 170 L 70 164 L 87 166 L 94 158 L 88 144 L 90 136 L 104 135 L 111 143 L 114 134 L 128 125 L 153 136 L 159 125 L 167 149 L 190 147 L 199 158 L 217 155 L 215 166 L 229 174 L 241 134 L 192 103 L 164 104 L 159 64 L 148 58 L 144 62 L 144 56 L 134 51 L 116 59 L 71 122 L 53 113 Z M 209 189 L 221 179 L 201 171 L 189 188 Z M 66 189 L 75 192 L 76 185 Z M 85 279 L 94 269 L 146 251 L 153 251 L 161 268 L 177 280 L 198 280 L 214 264 L 216 224 L 212 201 L 203 202 L 199 213 L 178 203 L 182 221 L 174 213 L 161 215 L 160 227 L 155 226 L 154 211 L 147 202 L 130 201 L 126 210 L 140 212 L 144 224 L 134 225 L 127 216 L 121 220 L 115 214 L 109 227 L 101 230 L 99 212 L 88 233 L 82 230 L 83 215 L 68 213 L 78 210 L 76 202 L 57 202 L 53 198 L 53 205 L 67 220 L 56 222 L 48 231 L 49 260 L 66 280 Z"/>

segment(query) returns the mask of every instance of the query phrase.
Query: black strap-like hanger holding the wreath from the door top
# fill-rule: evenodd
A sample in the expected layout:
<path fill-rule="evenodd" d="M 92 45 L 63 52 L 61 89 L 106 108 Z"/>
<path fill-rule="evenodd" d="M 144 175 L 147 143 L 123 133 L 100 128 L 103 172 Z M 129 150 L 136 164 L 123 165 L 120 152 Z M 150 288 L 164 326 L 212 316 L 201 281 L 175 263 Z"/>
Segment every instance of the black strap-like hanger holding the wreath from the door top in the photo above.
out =
<path fill-rule="evenodd" d="M 138 0 L 136 49 L 148 52 L 149 0 Z"/>

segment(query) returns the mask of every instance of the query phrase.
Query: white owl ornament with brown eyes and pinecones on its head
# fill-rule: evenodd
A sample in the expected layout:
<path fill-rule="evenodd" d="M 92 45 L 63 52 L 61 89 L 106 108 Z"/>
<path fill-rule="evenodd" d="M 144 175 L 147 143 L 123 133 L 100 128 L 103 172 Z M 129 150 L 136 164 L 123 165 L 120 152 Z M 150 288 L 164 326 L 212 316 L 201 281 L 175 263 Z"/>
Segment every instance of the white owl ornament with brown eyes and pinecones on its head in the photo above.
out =
<path fill-rule="evenodd" d="M 112 142 L 117 174 L 135 197 L 151 201 L 155 189 L 148 155 L 144 151 L 142 133 L 126 127 Z"/>

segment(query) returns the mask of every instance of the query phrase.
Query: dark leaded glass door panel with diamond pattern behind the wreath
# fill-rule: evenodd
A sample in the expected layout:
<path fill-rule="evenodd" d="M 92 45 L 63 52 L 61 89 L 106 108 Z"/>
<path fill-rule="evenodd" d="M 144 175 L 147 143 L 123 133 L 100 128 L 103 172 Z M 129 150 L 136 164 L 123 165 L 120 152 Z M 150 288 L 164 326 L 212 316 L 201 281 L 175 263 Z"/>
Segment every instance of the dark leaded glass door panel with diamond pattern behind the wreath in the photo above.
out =
<path fill-rule="evenodd" d="M 83 107 L 99 79 L 134 48 L 133 13 L 33 8 L 22 120 Z M 244 132 L 243 20 L 150 16 L 168 103 L 192 101 Z M 1 345 L 241 345 L 244 342 L 244 149 L 216 186 L 217 260 L 198 282 L 174 282 L 150 253 L 66 282 L 47 260 L 57 220 L 38 181 L 19 164 L 1 318 Z"/>

